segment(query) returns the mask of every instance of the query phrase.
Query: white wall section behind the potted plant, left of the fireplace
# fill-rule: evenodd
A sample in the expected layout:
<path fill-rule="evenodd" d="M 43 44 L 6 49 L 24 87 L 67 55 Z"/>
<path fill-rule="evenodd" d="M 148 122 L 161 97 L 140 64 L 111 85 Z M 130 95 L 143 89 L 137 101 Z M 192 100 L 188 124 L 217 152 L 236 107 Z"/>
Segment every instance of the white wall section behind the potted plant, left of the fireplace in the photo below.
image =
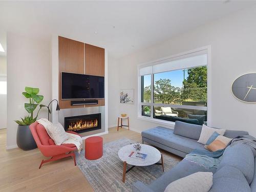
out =
<path fill-rule="evenodd" d="M 44 95 L 41 104 L 51 98 L 51 43 L 50 39 L 7 34 L 7 148 L 16 147 L 17 124 L 14 122 L 28 113 L 22 95 L 26 86 L 39 88 Z M 40 117 L 47 118 L 47 110 Z"/>

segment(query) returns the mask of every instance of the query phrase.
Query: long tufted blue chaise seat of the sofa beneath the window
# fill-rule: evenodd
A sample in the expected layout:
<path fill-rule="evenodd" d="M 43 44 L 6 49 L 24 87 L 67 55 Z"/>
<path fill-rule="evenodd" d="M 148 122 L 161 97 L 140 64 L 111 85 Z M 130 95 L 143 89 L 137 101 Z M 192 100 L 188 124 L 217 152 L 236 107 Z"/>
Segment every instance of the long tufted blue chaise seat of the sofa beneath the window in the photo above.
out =
<path fill-rule="evenodd" d="M 145 130 L 141 132 L 141 136 L 187 154 L 196 148 L 205 150 L 204 145 L 198 143 L 197 140 L 175 135 L 174 130 L 161 126 Z"/>

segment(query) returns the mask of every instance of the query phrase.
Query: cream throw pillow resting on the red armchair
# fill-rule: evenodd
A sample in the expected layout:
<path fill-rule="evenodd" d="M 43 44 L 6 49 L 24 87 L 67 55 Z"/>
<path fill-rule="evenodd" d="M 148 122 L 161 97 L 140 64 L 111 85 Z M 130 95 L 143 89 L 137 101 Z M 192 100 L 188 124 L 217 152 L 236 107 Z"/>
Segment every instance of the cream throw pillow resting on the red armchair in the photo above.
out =
<path fill-rule="evenodd" d="M 47 131 L 50 132 L 48 134 L 56 145 L 61 145 L 64 141 L 69 139 L 69 135 L 65 132 L 64 127 L 60 123 L 48 127 Z"/>

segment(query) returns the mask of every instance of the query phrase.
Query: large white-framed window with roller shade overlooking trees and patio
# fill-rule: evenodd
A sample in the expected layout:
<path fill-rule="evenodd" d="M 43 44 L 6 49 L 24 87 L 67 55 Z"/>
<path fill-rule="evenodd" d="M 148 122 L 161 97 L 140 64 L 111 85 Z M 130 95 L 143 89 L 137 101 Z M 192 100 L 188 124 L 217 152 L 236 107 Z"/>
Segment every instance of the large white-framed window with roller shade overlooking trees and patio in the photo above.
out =
<path fill-rule="evenodd" d="M 139 116 L 207 122 L 207 50 L 139 67 Z"/>

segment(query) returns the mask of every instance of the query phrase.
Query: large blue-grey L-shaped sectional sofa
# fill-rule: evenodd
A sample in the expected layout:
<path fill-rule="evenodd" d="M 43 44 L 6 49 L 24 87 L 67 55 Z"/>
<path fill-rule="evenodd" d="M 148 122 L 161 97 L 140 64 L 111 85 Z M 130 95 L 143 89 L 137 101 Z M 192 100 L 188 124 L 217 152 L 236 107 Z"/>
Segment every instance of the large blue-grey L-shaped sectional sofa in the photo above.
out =
<path fill-rule="evenodd" d="M 204 149 L 204 145 L 197 142 L 201 129 L 202 125 L 176 121 L 174 130 L 158 126 L 143 131 L 141 135 L 143 142 L 185 157 L 195 148 Z M 226 130 L 224 134 L 229 138 L 241 135 L 248 135 L 248 132 Z M 196 172 L 212 172 L 214 174 L 211 192 L 256 191 L 256 161 L 253 155 L 255 151 L 253 150 L 247 144 L 228 146 L 223 153 L 218 168 L 206 169 L 183 159 L 149 185 L 137 181 L 133 185 L 133 192 L 162 192 L 169 183 Z"/>

